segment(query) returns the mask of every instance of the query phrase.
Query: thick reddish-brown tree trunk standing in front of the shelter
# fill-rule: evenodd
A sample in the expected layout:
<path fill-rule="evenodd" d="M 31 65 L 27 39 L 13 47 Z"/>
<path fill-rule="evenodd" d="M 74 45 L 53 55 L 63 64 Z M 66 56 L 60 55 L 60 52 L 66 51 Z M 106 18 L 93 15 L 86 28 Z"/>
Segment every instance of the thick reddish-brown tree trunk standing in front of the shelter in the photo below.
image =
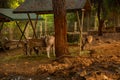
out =
<path fill-rule="evenodd" d="M 67 20 L 65 0 L 52 0 L 55 26 L 56 57 L 69 55 L 67 45 Z"/>

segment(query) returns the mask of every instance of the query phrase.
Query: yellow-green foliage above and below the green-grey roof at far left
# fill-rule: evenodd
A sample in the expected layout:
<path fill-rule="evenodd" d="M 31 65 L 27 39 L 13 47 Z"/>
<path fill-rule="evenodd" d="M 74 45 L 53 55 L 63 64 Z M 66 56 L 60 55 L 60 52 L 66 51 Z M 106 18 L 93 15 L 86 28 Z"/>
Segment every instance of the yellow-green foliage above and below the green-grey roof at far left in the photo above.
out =
<path fill-rule="evenodd" d="M 24 2 L 24 0 L 8 0 L 8 2 L 6 2 L 6 3 L 7 3 L 6 5 L 8 6 L 8 8 L 15 9 L 15 8 L 17 8 L 22 2 Z M 19 25 L 21 26 L 21 28 L 23 28 L 23 26 L 25 25 L 24 22 L 18 22 L 18 23 L 19 23 Z M 17 25 L 16 25 L 15 21 L 6 22 L 6 23 L 4 24 L 2 34 L 5 35 L 5 36 L 7 36 L 7 37 L 9 37 L 9 35 L 11 35 L 10 32 L 9 32 L 9 30 L 12 29 L 12 30 L 13 30 L 13 34 L 14 34 L 13 37 L 14 37 L 15 39 L 16 39 L 16 37 L 17 37 L 17 39 L 19 39 L 21 33 L 20 33 L 20 30 L 18 29 L 18 27 L 16 27 L 16 26 L 17 26 Z M 16 37 L 15 37 L 15 36 L 16 36 Z"/>

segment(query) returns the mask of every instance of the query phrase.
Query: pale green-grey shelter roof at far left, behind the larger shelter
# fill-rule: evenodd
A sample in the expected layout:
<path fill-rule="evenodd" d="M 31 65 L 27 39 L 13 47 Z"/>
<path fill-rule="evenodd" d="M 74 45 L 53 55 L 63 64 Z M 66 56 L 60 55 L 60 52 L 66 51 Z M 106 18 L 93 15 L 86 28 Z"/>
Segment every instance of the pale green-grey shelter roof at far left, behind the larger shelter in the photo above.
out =
<path fill-rule="evenodd" d="M 3 8 L 0 8 L 0 16 L 4 17 L 4 18 L 7 18 L 9 20 L 28 20 L 28 16 L 27 16 L 26 13 L 14 14 L 13 13 L 13 9 L 3 9 Z M 31 17 L 31 20 L 36 20 L 36 14 L 35 13 L 31 13 L 30 17 Z M 41 18 L 39 16 L 38 20 L 42 20 L 42 19 L 43 18 Z"/>

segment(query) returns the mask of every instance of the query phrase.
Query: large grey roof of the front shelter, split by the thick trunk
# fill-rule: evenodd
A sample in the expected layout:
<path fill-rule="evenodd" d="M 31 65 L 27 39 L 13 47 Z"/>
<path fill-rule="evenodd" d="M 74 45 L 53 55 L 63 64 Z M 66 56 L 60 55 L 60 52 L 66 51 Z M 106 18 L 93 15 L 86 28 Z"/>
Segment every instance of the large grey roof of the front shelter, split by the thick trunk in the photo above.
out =
<path fill-rule="evenodd" d="M 87 6 L 86 6 L 87 4 Z M 90 3 L 88 0 L 66 0 L 67 11 L 76 11 L 78 9 L 88 8 L 90 9 Z M 15 13 L 52 13 L 52 0 L 25 0 L 18 8 L 13 12 Z"/>

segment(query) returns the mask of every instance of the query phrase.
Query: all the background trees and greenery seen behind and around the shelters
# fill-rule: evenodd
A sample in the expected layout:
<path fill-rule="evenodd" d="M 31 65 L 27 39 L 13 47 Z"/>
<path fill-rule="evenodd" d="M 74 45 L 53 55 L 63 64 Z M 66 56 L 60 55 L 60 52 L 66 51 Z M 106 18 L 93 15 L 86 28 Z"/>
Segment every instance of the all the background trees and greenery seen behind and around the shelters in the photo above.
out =
<path fill-rule="evenodd" d="M 1 8 L 17 8 L 24 0 L 4 0 L 0 3 Z M 105 27 L 118 27 L 120 26 L 120 1 L 119 0 L 90 0 L 91 11 L 88 13 L 85 11 L 84 19 L 84 31 L 98 31 L 102 34 L 102 29 Z M 37 34 L 40 34 L 40 27 L 42 26 L 42 35 L 54 34 L 54 19 L 53 14 L 40 15 L 45 20 L 39 21 L 37 24 Z M 80 15 L 81 16 L 81 15 Z M 103 21 L 103 22 L 101 22 Z M 74 32 L 75 22 L 77 22 L 76 13 L 67 13 L 67 30 L 68 32 Z M 18 21 L 22 29 L 26 22 Z M 34 21 L 33 21 L 34 23 Z M 4 24 L 3 35 L 10 38 L 11 34 L 14 34 L 12 39 L 20 38 L 20 31 L 16 27 L 15 22 L 8 22 Z M 29 25 L 30 26 L 30 25 Z M 46 29 L 47 28 L 47 29 Z M 12 30 L 12 31 L 10 31 Z M 46 32 L 45 32 L 46 30 Z M 27 31 L 29 31 L 27 33 Z M 29 34 L 28 37 L 32 36 L 31 27 L 26 31 Z M 79 31 L 79 27 L 77 27 Z M 71 36 L 70 34 L 68 36 Z M 76 36 L 76 35 L 75 35 Z M 76 38 L 75 38 L 76 39 Z"/>

